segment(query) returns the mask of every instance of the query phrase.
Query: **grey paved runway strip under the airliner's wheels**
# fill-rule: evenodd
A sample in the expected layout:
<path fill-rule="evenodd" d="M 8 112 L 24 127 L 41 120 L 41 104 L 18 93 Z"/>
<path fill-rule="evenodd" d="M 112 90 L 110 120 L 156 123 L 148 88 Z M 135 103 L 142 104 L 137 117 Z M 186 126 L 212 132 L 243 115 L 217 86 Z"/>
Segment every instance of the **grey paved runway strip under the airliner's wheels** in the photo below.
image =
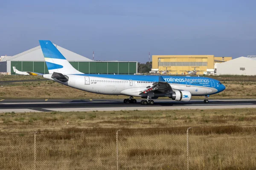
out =
<path fill-rule="evenodd" d="M 70 111 L 121 111 L 121 110 L 175 110 L 256 108 L 256 99 L 191 100 L 177 102 L 169 99 L 154 100 L 154 105 L 125 104 L 122 99 L 1 99 L 0 113 L 12 112 L 70 112 Z"/>

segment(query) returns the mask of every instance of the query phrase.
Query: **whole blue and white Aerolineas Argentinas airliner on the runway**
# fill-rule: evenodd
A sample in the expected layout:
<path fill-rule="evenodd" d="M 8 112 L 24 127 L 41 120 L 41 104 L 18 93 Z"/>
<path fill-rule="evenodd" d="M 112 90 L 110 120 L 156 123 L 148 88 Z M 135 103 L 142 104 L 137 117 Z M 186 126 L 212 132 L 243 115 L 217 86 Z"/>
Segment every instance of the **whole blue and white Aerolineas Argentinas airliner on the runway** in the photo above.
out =
<path fill-rule="evenodd" d="M 82 91 L 96 94 L 125 95 L 125 103 L 136 103 L 134 96 L 142 97 L 142 105 L 153 105 L 152 99 L 169 97 L 188 102 L 191 96 L 205 96 L 224 91 L 218 80 L 207 77 L 84 74 L 77 71 L 49 40 L 39 40 L 49 74 L 43 77 Z"/>

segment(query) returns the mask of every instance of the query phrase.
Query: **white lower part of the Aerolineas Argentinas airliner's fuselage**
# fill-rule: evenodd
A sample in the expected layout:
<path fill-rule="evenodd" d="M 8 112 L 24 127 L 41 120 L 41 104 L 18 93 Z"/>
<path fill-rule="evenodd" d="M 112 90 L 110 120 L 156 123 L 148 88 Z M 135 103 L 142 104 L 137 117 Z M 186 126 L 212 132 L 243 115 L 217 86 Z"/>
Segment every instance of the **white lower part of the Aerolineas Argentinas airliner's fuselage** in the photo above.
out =
<path fill-rule="evenodd" d="M 45 78 L 50 78 L 45 77 Z M 68 82 L 60 82 L 61 84 L 77 88 L 83 91 L 88 91 L 96 94 L 109 94 L 109 95 L 127 95 L 127 96 L 143 96 L 141 92 L 148 86 L 152 86 L 154 82 L 137 81 L 127 79 L 113 79 L 105 77 L 81 76 L 66 74 L 69 77 Z M 172 89 L 179 89 L 189 91 L 193 96 L 202 96 L 215 93 L 217 90 L 211 87 L 203 87 L 196 85 L 181 85 L 169 83 Z M 161 96 L 161 95 L 160 95 Z M 162 96 L 164 96 L 162 94 Z"/>

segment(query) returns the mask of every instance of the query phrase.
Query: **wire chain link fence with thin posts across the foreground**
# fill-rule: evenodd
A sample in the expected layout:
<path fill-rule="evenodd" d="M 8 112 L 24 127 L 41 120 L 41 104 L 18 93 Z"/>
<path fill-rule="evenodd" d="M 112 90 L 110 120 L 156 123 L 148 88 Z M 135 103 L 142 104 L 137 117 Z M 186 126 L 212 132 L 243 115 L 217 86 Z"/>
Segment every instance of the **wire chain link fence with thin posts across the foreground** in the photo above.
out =
<path fill-rule="evenodd" d="M 256 127 L 0 133 L 1 170 L 256 169 Z"/>

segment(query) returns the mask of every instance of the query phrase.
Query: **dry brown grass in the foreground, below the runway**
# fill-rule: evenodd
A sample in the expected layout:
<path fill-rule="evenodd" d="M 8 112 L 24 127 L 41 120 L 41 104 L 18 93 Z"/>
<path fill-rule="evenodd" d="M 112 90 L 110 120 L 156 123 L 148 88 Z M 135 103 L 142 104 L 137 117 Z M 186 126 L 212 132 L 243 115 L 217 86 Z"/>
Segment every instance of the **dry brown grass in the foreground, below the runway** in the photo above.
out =
<path fill-rule="evenodd" d="M 0 169 L 116 169 L 119 129 L 120 170 L 186 169 L 193 127 L 190 170 L 253 170 L 255 125 L 256 109 L 0 113 Z"/>

